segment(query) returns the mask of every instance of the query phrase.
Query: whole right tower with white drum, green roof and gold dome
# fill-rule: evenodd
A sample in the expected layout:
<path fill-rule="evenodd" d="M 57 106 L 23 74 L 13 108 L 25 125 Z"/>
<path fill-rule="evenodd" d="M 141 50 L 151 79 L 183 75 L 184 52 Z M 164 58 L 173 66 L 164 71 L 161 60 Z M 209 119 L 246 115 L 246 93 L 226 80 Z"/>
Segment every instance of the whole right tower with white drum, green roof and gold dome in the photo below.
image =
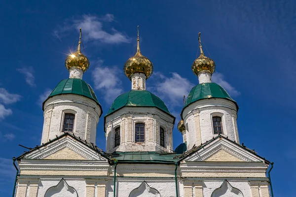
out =
<path fill-rule="evenodd" d="M 181 112 L 187 148 L 205 143 L 218 134 L 239 142 L 236 123 L 238 105 L 220 85 L 211 82 L 215 62 L 204 55 L 200 33 L 198 38 L 200 56 L 191 67 L 198 76 L 199 84 L 191 89 Z"/>

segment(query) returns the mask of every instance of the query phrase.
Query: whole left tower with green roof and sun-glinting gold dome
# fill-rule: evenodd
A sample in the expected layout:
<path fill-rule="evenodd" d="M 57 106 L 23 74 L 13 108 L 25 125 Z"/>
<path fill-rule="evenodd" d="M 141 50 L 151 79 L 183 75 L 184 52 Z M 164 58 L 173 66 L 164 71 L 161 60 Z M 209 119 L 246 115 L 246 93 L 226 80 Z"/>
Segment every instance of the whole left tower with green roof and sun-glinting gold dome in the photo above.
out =
<path fill-rule="evenodd" d="M 89 61 L 81 53 L 81 29 L 77 51 L 66 59 L 70 78 L 62 80 L 43 102 L 44 124 L 41 144 L 69 132 L 96 143 L 102 107 L 89 84 L 82 80 Z"/>

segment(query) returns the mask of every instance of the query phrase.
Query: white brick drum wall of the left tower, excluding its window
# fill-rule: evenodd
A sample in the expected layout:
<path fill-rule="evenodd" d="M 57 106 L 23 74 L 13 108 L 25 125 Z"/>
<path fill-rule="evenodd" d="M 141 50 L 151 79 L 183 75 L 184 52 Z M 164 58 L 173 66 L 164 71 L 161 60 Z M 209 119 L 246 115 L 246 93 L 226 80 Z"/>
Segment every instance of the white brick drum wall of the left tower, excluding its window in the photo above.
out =
<path fill-rule="evenodd" d="M 80 95 L 56 95 L 44 103 L 41 144 L 63 134 L 65 113 L 75 115 L 75 136 L 96 143 L 96 130 L 101 108 L 94 100 Z"/>

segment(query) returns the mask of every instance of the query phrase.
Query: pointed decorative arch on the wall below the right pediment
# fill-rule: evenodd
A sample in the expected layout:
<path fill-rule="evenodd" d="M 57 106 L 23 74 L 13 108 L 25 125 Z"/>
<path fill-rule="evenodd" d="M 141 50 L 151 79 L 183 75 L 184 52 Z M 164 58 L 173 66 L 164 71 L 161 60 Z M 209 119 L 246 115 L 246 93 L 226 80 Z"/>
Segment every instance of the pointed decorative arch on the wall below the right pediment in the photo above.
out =
<path fill-rule="evenodd" d="M 243 193 L 230 185 L 227 180 L 224 180 L 221 187 L 214 190 L 211 197 L 244 197 Z"/>

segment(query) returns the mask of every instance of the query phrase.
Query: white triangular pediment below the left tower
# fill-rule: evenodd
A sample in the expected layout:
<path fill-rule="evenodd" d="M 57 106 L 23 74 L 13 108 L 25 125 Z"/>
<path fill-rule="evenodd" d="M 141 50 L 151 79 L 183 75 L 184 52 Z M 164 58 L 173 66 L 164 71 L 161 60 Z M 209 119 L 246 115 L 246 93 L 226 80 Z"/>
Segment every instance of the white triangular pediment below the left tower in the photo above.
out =
<path fill-rule="evenodd" d="M 24 159 L 35 160 L 93 160 L 106 161 L 100 153 L 88 147 L 86 144 L 65 135 L 54 140 L 24 156 Z"/>

